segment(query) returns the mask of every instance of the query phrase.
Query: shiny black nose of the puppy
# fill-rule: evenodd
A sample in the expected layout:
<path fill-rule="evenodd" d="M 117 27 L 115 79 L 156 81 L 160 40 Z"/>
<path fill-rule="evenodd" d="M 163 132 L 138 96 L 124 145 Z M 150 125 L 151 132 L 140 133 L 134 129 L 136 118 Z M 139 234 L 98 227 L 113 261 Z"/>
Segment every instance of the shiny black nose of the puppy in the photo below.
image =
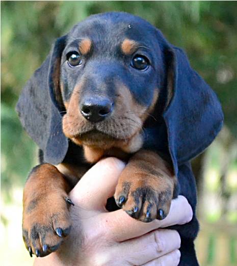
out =
<path fill-rule="evenodd" d="M 113 102 L 109 99 L 89 98 L 81 103 L 81 113 L 90 122 L 100 122 L 113 111 Z"/>

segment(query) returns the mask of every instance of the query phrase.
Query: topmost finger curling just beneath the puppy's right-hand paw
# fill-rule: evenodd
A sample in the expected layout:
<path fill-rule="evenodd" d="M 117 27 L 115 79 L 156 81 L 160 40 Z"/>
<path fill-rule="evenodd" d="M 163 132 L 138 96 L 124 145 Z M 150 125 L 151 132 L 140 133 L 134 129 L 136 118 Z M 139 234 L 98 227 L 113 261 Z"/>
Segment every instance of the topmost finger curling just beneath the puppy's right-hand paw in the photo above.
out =
<path fill-rule="evenodd" d="M 188 200 L 183 196 L 178 196 L 177 199 L 172 200 L 168 216 L 161 221 L 154 220 L 151 223 L 143 223 L 131 218 L 122 209 L 102 214 L 102 216 L 104 226 L 108 228 L 108 237 L 122 242 L 160 227 L 188 223 L 192 220 L 193 211 Z"/>

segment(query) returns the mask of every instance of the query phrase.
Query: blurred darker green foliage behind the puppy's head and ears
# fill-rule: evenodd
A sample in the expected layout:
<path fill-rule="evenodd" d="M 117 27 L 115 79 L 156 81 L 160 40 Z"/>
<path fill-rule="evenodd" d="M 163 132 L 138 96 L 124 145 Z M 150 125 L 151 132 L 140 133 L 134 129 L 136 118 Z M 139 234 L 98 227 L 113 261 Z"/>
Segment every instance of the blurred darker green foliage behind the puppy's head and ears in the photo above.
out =
<path fill-rule="evenodd" d="M 15 114 L 18 95 L 52 42 L 90 14 L 125 11 L 161 29 L 187 51 L 192 66 L 217 92 L 225 124 L 237 134 L 237 2 L 4 1 L 1 2 L 3 188 L 22 183 L 36 164 L 36 147 Z"/>

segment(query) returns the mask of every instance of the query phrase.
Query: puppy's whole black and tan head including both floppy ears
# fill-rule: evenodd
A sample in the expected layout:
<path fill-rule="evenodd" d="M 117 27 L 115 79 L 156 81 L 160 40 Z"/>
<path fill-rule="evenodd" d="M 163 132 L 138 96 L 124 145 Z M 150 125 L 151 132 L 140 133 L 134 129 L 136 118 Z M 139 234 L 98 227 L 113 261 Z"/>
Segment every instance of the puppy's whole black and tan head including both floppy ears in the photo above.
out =
<path fill-rule="evenodd" d="M 70 139 L 89 162 L 113 149 L 133 153 L 163 141 L 175 166 L 203 150 L 223 118 L 182 50 L 147 21 L 116 12 L 93 15 L 59 38 L 17 111 L 52 164 L 63 161 Z M 147 134 L 147 125 L 166 128 L 167 140 Z"/>

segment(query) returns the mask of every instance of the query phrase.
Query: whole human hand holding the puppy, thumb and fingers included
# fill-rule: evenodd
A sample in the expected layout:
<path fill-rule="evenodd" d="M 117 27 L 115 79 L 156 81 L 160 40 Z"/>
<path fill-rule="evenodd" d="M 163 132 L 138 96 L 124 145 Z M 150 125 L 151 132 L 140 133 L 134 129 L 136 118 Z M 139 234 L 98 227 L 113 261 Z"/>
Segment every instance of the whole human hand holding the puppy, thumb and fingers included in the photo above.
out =
<path fill-rule="evenodd" d="M 116 158 L 102 159 L 70 193 L 72 228 L 59 250 L 37 265 L 146 265 L 175 266 L 180 258 L 177 231 L 163 228 L 192 219 L 187 199 L 172 200 L 168 216 L 151 223 L 129 217 L 122 209 L 108 212 L 106 202 L 115 192 L 125 164 Z"/>

